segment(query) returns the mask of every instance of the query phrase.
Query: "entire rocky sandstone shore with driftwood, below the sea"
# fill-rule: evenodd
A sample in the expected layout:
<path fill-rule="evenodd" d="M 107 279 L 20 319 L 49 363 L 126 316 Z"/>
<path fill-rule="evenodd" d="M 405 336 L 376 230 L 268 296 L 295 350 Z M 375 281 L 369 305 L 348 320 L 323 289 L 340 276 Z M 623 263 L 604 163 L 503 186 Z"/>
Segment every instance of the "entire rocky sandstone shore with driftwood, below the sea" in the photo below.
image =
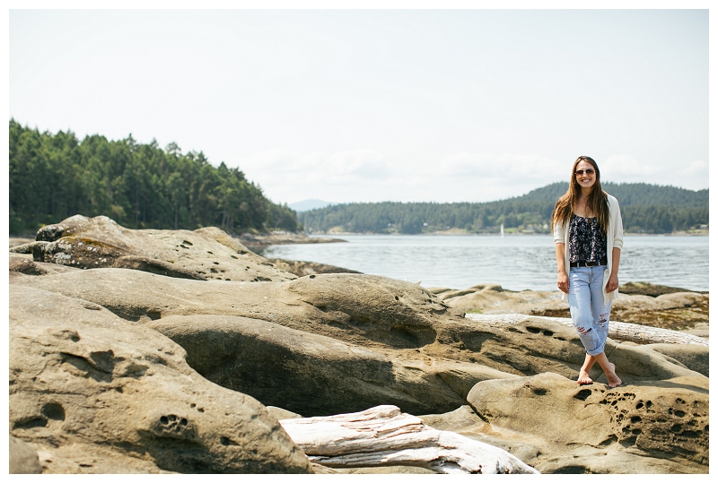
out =
<path fill-rule="evenodd" d="M 281 235 L 11 239 L 11 472 L 708 473 L 709 294 L 622 286 L 624 384 L 578 385 L 557 292 L 254 252 Z"/>

